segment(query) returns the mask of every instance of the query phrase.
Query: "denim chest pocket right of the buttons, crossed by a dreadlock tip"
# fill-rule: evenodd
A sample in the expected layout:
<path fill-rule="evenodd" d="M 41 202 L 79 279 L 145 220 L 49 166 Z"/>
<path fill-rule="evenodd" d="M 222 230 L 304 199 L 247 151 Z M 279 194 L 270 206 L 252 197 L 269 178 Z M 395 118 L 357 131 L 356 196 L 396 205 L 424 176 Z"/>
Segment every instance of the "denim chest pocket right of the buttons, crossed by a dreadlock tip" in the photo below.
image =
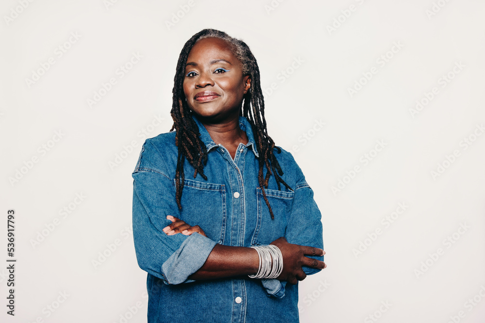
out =
<path fill-rule="evenodd" d="M 273 189 L 264 189 L 266 198 L 270 202 L 275 219 L 271 218 L 261 188 L 256 188 L 258 220 L 251 245 L 269 245 L 279 237 L 285 236 L 286 227 L 290 219 L 291 203 L 295 192 L 285 192 Z"/>

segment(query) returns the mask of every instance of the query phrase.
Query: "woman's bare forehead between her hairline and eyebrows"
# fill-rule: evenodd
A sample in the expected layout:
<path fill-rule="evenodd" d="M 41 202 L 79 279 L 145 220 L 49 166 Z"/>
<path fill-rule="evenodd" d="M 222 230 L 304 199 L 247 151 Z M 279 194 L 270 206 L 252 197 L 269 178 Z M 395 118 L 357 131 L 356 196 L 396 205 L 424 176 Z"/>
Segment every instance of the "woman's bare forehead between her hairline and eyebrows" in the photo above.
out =
<path fill-rule="evenodd" d="M 231 63 L 238 62 L 232 53 L 231 45 L 221 38 L 209 37 L 197 41 L 189 52 L 187 62 L 225 59 Z"/>

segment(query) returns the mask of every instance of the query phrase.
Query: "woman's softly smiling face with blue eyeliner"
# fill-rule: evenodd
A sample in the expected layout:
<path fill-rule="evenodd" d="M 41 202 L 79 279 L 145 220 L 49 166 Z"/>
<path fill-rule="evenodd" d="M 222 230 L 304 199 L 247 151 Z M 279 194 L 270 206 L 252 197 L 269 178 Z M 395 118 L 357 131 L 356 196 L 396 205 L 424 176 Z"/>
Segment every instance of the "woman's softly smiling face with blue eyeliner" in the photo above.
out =
<path fill-rule="evenodd" d="M 195 115 L 210 123 L 237 120 L 250 86 L 249 76 L 242 76 L 241 62 L 225 40 L 204 38 L 192 47 L 183 91 Z"/>

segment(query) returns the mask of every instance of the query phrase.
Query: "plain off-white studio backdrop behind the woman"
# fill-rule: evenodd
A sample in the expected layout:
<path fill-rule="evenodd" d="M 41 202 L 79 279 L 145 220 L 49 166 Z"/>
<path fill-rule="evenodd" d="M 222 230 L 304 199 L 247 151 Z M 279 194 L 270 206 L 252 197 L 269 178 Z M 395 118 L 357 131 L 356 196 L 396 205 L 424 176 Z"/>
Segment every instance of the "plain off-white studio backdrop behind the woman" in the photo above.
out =
<path fill-rule="evenodd" d="M 204 28 L 251 47 L 268 132 L 323 215 L 328 267 L 300 283 L 301 322 L 485 322 L 485 2 L 3 0 L 0 14 L 0 322 L 146 322 L 131 172 L 171 128 L 178 55 Z"/>

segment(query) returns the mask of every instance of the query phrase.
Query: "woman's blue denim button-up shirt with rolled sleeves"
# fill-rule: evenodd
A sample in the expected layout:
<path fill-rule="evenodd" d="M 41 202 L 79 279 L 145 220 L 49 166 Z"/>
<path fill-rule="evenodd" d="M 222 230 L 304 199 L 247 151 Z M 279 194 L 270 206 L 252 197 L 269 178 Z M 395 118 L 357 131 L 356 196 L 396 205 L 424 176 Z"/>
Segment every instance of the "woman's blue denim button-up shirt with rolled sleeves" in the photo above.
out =
<path fill-rule="evenodd" d="M 239 117 L 239 126 L 248 143 L 240 143 L 232 159 L 193 118 L 208 151 L 207 180 L 198 173 L 194 178 L 194 168 L 185 160 L 181 210 L 175 198 L 175 132 L 147 139 L 132 173 L 133 239 L 138 265 L 148 273 L 148 322 L 299 322 L 298 285 L 247 276 L 188 278 L 216 244 L 268 245 L 285 237 L 291 244 L 323 249 L 321 214 L 293 156 L 275 150 L 281 177 L 291 189 L 281 185 L 278 190 L 271 176 L 265 189 L 275 215 L 271 219 L 259 188 L 259 154 L 247 119 Z M 207 237 L 165 234 L 162 229 L 172 223 L 167 215 L 199 225 Z M 311 258 L 323 261 L 323 256 Z M 320 271 L 303 269 L 307 275 Z"/>

